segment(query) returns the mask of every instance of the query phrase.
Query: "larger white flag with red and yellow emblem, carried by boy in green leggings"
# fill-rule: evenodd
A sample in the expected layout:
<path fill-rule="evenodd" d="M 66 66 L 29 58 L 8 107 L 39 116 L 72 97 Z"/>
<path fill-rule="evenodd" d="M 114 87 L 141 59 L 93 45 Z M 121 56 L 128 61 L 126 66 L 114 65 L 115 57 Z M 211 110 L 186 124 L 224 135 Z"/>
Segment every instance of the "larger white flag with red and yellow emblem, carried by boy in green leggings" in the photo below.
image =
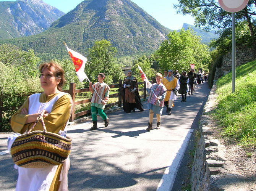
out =
<path fill-rule="evenodd" d="M 87 62 L 87 58 L 85 58 L 83 55 L 77 53 L 76 51 L 73 51 L 68 48 L 65 42 L 63 42 L 66 46 L 66 50 L 68 50 L 68 53 L 74 63 L 75 69 L 76 69 L 76 75 L 80 82 L 83 82 L 84 79 L 88 79 L 87 75 L 84 72 L 84 67 Z M 89 80 L 89 79 L 88 79 Z"/>

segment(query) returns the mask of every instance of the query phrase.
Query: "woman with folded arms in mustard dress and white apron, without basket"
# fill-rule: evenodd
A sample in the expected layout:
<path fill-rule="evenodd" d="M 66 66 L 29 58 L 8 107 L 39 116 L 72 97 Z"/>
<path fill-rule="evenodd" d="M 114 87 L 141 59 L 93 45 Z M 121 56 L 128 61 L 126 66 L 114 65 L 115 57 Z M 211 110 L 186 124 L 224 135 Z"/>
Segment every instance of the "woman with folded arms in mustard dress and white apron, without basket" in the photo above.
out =
<path fill-rule="evenodd" d="M 68 93 L 61 92 L 66 81 L 64 71 L 54 62 L 41 64 L 40 71 L 44 92 L 27 98 L 11 117 L 11 128 L 24 133 L 45 109 L 43 118 L 47 131 L 66 136 L 65 127 L 73 109 L 73 101 Z M 43 130 L 42 124 L 37 123 L 33 130 Z M 62 165 L 40 169 L 16 167 L 19 172 L 16 191 L 68 191 L 69 157 Z"/>

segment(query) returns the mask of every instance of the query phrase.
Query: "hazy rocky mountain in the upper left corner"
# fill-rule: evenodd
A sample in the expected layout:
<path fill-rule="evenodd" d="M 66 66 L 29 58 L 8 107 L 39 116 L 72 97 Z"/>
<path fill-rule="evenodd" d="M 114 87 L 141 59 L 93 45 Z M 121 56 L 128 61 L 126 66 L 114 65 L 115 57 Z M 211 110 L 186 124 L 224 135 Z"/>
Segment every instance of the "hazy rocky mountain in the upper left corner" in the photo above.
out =
<path fill-rule="evenodd" d="M 64 14 L 41 0 L 0 2 L 0 39 L 39 34 Z"/>

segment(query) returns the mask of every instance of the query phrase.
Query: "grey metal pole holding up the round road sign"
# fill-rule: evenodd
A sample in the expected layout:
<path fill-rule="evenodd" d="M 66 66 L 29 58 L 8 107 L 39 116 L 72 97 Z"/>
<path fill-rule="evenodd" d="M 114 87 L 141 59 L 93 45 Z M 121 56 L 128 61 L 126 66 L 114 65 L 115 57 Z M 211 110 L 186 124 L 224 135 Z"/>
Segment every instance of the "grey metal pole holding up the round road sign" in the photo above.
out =
<path fill-rule="evenodd" d="M 235 69 L 236 69 L 236 47 L 235 47 L 235 13 L 232 13 L 232 93 L 235 92 Z"/>

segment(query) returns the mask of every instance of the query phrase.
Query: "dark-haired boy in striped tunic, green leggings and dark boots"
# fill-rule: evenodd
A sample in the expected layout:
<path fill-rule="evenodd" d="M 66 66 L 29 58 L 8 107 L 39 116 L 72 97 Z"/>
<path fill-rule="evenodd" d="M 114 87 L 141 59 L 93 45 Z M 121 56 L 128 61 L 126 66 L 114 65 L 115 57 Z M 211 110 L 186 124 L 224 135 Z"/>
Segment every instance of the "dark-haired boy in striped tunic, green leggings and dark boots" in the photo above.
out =
<path fill-rule="evenodd" d="M 95 130 L 98 128 L 97 126 L 97 111 L 100 117 L 104 120 L 104 126 L 107 127 L 109 125 L 109 117 L 103 112 L 107 102 L 109 101 L 109 86 L 107 83 L 104 83 L 103 80 L 105 79 L 105 74 L 100 73 L 98 74 L 98 81 L 97 83 L 89 83 L 89 89 L 92 95 L 91 101 L 91 108 L 92 108 L 92 122 L 93 126 L 90 130 Z M 94 88 L 92 88 L 92 86 Z M 96 90 L 96 91 L 95 91 Z"/>

